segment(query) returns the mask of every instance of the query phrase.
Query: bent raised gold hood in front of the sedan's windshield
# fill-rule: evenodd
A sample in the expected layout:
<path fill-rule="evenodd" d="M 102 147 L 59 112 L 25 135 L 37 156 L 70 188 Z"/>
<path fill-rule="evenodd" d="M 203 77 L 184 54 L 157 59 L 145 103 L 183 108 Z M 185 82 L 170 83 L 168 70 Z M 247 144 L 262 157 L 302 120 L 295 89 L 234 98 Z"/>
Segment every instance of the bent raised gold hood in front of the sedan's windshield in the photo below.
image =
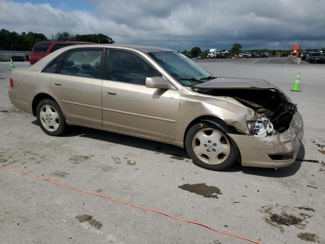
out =
<path fill-rule="evenodd" d="M 204 83 L 195 85 L 201 89 L 210 88 L 251 88 L 251 89 L 277 89 L 277 86 L 263 79 L 235 78 L 235 77 L 217 77 Z"/>

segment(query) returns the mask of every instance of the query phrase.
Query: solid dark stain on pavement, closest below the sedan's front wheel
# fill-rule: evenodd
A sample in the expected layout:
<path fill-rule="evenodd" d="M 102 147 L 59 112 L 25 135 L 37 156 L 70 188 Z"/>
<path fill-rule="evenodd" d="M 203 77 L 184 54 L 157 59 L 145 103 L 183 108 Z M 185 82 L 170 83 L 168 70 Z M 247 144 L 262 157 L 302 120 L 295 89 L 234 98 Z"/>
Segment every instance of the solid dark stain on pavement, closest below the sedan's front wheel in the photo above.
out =
<path fill-rule="evenodd" d="M 217 187 L 207 186 L 205 183 L 201 184 L 184 184 L 178 188 L 201 195 L 206 198 L 219 198 L 218 195 L 222 195 L 221 191 Z"/>

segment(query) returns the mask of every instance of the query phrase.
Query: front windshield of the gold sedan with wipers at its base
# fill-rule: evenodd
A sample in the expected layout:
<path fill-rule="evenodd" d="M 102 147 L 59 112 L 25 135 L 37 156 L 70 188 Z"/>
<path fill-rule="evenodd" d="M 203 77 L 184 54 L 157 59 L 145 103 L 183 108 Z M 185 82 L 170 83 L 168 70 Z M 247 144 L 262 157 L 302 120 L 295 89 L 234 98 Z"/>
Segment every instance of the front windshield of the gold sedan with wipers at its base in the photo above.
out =
<path fill-rule="evenodd" d="M 216 78 L 179 52 L 150 52 L 148 55 L 184 86 Z"/>

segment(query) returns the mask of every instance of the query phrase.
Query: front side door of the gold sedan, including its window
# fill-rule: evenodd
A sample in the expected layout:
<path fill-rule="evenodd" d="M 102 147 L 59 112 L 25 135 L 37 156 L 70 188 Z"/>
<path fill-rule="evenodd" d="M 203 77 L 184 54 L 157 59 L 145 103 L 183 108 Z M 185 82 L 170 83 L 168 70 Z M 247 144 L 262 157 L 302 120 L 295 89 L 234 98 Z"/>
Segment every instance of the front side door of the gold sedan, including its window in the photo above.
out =
<path fill-rule="evenodd" d="M 110 49 L 103 81 L 103 127 L 173 141 L 177 130 L 179 91 L 145 86 L 161 76 L 138 54 Z"/>

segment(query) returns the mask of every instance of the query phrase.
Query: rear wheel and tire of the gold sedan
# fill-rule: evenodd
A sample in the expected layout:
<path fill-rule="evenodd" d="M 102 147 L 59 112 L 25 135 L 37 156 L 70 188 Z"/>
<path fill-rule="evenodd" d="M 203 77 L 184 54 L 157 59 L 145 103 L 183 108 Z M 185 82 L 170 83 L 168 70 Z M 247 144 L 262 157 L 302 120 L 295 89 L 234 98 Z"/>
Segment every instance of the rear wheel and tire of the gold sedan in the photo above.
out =
<path fill-rule="evenodd" d="M 59 105 L 52 99 L 43 99 L 37 105 L 36 116 L 41 129 L 47 135 L 63 135 L 68 127 Z"/>

